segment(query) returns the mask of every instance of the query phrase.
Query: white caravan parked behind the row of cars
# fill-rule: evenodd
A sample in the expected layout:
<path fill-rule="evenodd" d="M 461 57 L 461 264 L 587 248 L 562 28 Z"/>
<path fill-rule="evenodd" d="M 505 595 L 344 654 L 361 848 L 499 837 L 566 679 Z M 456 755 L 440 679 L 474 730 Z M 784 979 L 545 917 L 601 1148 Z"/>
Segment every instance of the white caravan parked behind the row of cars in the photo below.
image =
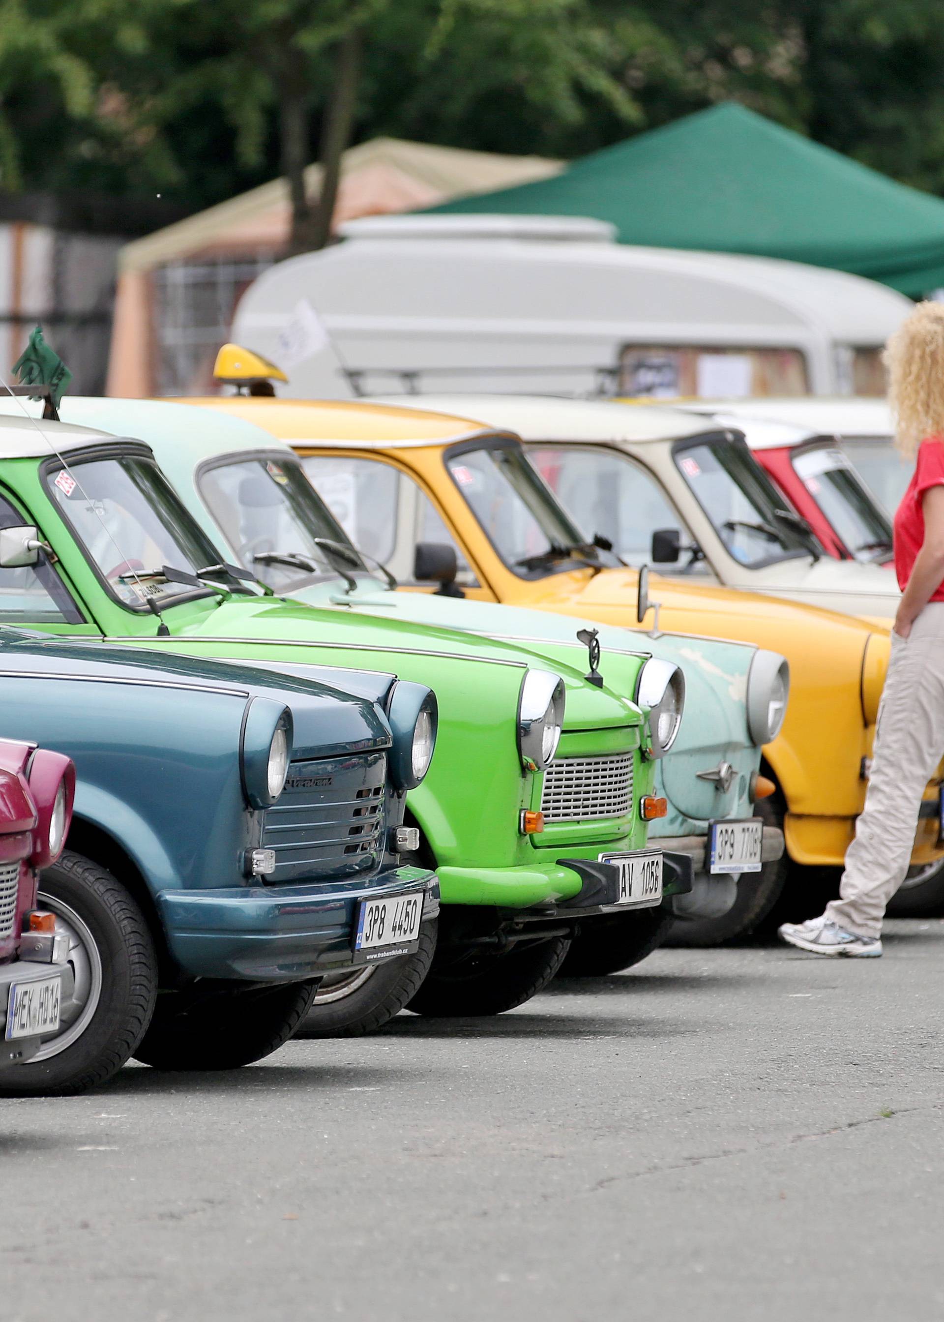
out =
<path fill-rule="evenodd" d="M 796 262 L 631 247 L 590 219 L 389 215 L 341 233 L 237 308 L 233 338 L 288 370 L 283 395 L 878 395 L 881 348 L 912 305 Z"/>

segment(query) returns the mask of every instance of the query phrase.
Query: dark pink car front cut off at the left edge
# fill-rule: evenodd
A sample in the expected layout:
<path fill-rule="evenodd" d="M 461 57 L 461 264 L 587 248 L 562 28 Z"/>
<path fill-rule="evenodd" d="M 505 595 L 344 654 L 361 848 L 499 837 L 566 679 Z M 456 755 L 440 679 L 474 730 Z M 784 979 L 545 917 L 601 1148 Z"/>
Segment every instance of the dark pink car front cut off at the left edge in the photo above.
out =
<path fill-rule="evenodd" d="M 0 739 L 0 1068 L 22 1064 L 67 1022 L 67 937 L 36 907 L 37 874 L 62 853 L 73 812 L 69 758 Z"/>

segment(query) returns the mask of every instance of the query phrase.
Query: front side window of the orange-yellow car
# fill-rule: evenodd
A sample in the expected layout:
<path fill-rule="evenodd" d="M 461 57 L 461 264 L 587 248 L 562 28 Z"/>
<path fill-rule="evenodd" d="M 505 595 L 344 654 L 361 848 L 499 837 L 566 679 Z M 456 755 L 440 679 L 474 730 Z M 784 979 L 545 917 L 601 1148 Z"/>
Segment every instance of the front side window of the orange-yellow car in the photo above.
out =
<path fill-rule="evenodd" d="M 354 546 L 386 564 L 401 583 L 415 582 L 416 542 L 443 542 L 456 553 L 456 583 L 479 586 L 439 510 L 407 473 L 382 460 L 346 455 L 308 455 L 301 463 Z"/>

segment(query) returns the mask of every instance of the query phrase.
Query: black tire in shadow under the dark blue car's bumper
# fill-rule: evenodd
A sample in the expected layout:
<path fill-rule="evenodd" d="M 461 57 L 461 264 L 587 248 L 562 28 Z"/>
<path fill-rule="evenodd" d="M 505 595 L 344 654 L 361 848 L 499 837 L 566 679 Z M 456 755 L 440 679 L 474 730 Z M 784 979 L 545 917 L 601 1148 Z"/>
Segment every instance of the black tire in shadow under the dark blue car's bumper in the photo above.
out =
<path fill-rule="evenodd" d="M 167 992 L 135 1060 L 152 1069 L 239 1069 L 263 1060 L 296 1031 L 316 986 L 218 984 Z"/>

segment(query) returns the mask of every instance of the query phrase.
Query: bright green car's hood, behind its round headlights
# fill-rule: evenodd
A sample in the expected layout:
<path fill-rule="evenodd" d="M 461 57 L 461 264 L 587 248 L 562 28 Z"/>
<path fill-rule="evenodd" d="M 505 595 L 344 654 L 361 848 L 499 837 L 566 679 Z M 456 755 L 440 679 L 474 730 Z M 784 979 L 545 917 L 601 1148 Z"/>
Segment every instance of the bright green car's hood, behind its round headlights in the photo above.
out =
<path fill-rule="evenodd" d="M 348 657 L 352 652 L 358 660 L 362 656 L 366 669 L 398 674 L 401 658 L 410 657 L 411 678 L 420 678 L 431 689 L 447 681 L 456 661 L 481 662 L 483 685 L 491 682 L 489 668 L 496 664 L 520 666 L 522 673 L 528 668 L 554 670 L 567 691 L 565 730 L 619 728 L 643 720 L 632 702 L 608 687 L 587 683 L 583 672 L 572 665 L 549 664 L 539 652 L 457 629 L 413 625 L 398 616 L 354 612 L 349 605 L 317 608 L 283 598 L 234 598 L 188 619 L 189 623 L 181 621 L 173 629 L 176 639 L 246 644 L 253 649 L 247 657 L 253 661 L 264 661 L 266 645 L 271 644 L 274 650 L 297 648 L 299 662 L 331 668 L 332 653 L 342 649 Z M 275 670 L 282 660 L 282 656 L 274 660 Z M 345 668 L 340 673 L 349 670 Z M 468 670 L 463 682 L 468 690 Z M 471 691 L 463 697 L 475 702 Z"/>

